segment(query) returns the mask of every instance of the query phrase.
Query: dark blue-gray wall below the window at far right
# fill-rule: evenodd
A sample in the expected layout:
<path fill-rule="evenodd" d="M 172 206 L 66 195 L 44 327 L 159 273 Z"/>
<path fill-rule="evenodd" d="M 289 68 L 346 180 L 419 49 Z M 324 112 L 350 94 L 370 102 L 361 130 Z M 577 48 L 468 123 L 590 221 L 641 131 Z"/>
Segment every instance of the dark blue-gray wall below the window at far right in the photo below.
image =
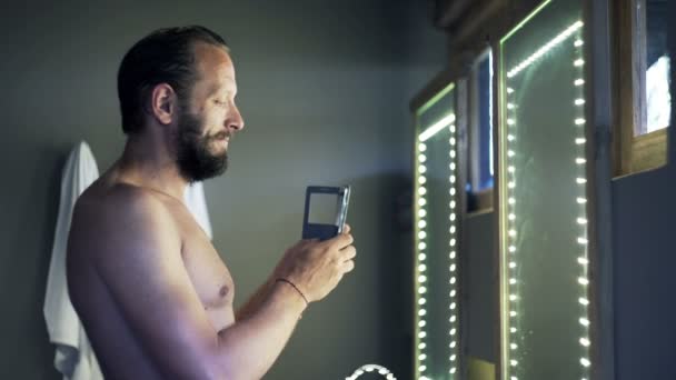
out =
<path fill-rule="evenodd" d="M 675 186 L 673 163 L 613 183 L 618 380 L 676 379 Z"/>

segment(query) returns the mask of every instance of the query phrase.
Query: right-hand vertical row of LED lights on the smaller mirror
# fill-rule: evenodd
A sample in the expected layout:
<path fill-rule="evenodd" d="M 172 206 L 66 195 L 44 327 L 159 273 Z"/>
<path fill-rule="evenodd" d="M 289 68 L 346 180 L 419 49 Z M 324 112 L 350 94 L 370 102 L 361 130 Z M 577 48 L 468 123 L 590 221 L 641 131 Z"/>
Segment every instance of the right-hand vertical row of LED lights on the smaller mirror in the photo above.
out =
<path fill-rule="evenodd" d="M 455 118 L 454 118 L 455 120 Z M 450 289 L 449 289 L 449 298 L 450 298 L 450 304 L 449 304 L 449 318 L 448 318 L 448 322 L 450 323 L 449 326 L 449 330 L 448 330 L 448 340 L 449 340 L 449 349 L 450 349 L 450 356 L 448 357 L 449 361 L 450 361 L 450 368 L 449 368 L 449 373 L 451 376 L 451 379 L 456 379 L 457 377 L 457 371 L 458 371 L 458 352 L 459 352 L 459 342 L 458 342 L 458 336 L 459 336 L 459 330 L 460 330 L 460 321 L 458 318 L 458 268 L 457 268 L 457 256 L 458 256 L 458 229 L 457 229 L 457 196 L 456 196 L 456 191 L 457 191 L 457 176 L 456 176 L 456 168 L 457 168 L 457 160 L 458 160 L 458 144 L 457 144 L 457 138 L 456 138 L 456 126 L 455 123 L 450 124 L 449 127 L 450 129 L 450 139 L 448 140 L 449 144 L 450 144 L 450 149 L 449 149 L 449 156 L 450 156 L 450 162 L 448 168 L 450 169 L 450 177 L 449 179 L 449 193 L 450 193 L 450 202 L 449 202 L 449 214 L 448 218 L 450 219 L 450 230 L 449 236 L 450 236 L 450 240 L 448 242 L 449 244 L 449 252 L 448 252 L 448 261 L 449 261 L 449 279 L 450 279 Z"/>

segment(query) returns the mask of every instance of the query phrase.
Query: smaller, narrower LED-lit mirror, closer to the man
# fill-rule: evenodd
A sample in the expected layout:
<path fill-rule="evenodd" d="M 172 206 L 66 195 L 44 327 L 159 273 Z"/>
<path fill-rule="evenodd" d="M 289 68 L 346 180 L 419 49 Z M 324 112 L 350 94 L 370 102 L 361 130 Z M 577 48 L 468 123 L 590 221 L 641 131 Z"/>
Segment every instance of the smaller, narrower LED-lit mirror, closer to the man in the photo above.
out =
<path fill-rule="evenodd" d="M 415 169 L 416 379 L 458 379 L 455 87 L 418 108 Z"/>

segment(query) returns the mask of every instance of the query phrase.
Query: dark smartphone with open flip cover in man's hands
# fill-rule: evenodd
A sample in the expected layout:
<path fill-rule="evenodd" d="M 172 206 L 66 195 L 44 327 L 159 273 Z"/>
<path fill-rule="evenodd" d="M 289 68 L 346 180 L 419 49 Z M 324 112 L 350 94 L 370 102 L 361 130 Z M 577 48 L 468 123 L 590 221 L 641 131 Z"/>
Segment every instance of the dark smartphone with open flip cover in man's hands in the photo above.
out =
<path fill-rule="evenodd" d="M 308 186 L 305 192 L 302 239 L 327 240 L 341 233 L 349 202 L 349 186 Z"/>

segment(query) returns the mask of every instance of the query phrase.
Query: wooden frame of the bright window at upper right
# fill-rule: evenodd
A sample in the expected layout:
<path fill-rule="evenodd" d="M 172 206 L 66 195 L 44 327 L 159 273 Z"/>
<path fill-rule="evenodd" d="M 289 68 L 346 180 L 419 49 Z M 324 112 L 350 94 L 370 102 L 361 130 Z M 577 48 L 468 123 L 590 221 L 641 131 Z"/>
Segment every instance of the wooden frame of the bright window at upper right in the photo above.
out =
<path fill-rule="evenodd" d="M 668 129 L 639 134 L 647 130 L 646 0 L 614 0 L 613 8 L 617 62 L 613 172 L 620 177 L 664 167 Z"/>

